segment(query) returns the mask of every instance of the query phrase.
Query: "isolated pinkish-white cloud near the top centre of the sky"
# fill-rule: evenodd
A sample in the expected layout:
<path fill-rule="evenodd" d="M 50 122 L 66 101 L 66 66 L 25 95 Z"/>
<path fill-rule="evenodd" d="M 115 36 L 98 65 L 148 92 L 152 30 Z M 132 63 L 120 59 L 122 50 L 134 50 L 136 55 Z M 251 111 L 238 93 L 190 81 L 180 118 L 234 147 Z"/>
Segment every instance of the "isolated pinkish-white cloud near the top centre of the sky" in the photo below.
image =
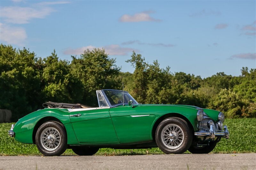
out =
<path fill-rule="evenodd" d="M 154 11 L 143 11 L 140 13 L 135 13 L 134 15 L 123 15 L 119 21 L 120 22 L 142 22 L 142 21 L 161 21 L 160 19 L 155 19 L 149 16 L 150 13 Z"/>

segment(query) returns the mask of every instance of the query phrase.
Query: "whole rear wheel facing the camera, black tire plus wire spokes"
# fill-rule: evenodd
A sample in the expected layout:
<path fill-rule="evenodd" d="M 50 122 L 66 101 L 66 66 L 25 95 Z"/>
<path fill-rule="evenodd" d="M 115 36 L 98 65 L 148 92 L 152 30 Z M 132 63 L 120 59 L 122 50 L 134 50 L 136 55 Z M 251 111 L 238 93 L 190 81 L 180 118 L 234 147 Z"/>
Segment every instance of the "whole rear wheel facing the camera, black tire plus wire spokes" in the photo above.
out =
<path fill-rule="evenodd" d="M 47 133 L 46 135 L 46 132 L 51 130 L 51 134 Z M 53 134 L 53 131 L 55 131 L 55 134 Z M 49 139 L 47 139 L 48 137 Z M 42 142 L 41 138 L 44 139 Z M 63 124 L 56 121 L 43 123 L 36 131 L 35 141 L 37 149 L 45 156 L 60 156 L 66 151 L 68 146 L 65 127 Z"/>

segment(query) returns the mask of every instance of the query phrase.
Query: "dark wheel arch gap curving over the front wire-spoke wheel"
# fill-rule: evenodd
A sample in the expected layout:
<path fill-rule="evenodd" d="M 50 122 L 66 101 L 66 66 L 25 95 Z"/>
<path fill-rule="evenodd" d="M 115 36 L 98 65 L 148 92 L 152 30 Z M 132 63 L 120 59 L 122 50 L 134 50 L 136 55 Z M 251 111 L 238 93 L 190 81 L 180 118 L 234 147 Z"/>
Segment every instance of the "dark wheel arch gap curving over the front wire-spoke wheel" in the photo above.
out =
<path fill-rule="evenodd" d="M 195 132 L 193 125 L 191 124 L 191 122 L 188 120 L 187 117 L 185 117 L 185 116 L 183 116 L 183 115 L 181 115 L 181 114 L 179 114 L 179 113 L 167 113 L 167 114 L 165 114 L 165 115 L 159 117 L 159 118 L 156 120 L 156 122 L 154 123 L 154 125 L 153 125 L 151 135 L 152 135 L 152 138 L 153 138 L 154 141 L 156 140 L 156 139 L 155 139 L 155 134 L 156 134 L 156 128 L 157 128 L 157 126 L 158 126 L 164 119 L 166 119 L 166 118 L 168 118 L 168 117 L 179 117 L 179 118 L 185 120 L 185 121 L 188 123 L 189 128 L 191 128 L 191 130 L 193 131 L 193 133 Z"/>

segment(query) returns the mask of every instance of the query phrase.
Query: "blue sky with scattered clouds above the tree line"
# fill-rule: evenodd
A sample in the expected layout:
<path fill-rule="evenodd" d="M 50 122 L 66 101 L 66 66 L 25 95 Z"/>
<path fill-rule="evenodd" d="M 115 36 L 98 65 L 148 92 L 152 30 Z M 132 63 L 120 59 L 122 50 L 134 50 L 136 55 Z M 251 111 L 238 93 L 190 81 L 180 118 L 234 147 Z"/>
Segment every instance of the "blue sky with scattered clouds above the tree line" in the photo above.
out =
<path fill-rule="evenodd" d="M 132 51 L 171 72 L 238 76 L 256 68 L 256 1 L 0 1 L 0 40 L 71 60 L 105 48 L 123 72 Z"/>

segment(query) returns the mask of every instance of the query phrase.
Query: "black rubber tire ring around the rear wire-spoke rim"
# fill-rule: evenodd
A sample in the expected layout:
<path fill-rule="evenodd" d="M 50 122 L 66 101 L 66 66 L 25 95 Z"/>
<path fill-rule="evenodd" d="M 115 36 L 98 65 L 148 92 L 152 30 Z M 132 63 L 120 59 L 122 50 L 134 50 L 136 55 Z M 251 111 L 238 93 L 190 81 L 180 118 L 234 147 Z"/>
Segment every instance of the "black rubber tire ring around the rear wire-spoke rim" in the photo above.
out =
<path fill-rule="evenodd" d="M 53 151 L 48 151 L 46 150 L 42 144 L 41 144 L 41 134 L 42 132 L 46 129 L 46 128 L 55 128 L 59 131 L 60 133 L 60 145 Z M 50 121 L 50 122 L 45 122 L 44 124 L 42 124 L 37 132 L 36 132 L 36 146 L 37 149 L 44 154 L 45 156 L 58 156 L 61 155 L 63 153 L 63 150 L 65 152 L 66 148 L 67 148 L 67 135 L 66 135 L 66 131 L 64 130 L 64 127 L 62 124 L 58 123 L 58 122 L 54 122 L 54 121 Z"/>

